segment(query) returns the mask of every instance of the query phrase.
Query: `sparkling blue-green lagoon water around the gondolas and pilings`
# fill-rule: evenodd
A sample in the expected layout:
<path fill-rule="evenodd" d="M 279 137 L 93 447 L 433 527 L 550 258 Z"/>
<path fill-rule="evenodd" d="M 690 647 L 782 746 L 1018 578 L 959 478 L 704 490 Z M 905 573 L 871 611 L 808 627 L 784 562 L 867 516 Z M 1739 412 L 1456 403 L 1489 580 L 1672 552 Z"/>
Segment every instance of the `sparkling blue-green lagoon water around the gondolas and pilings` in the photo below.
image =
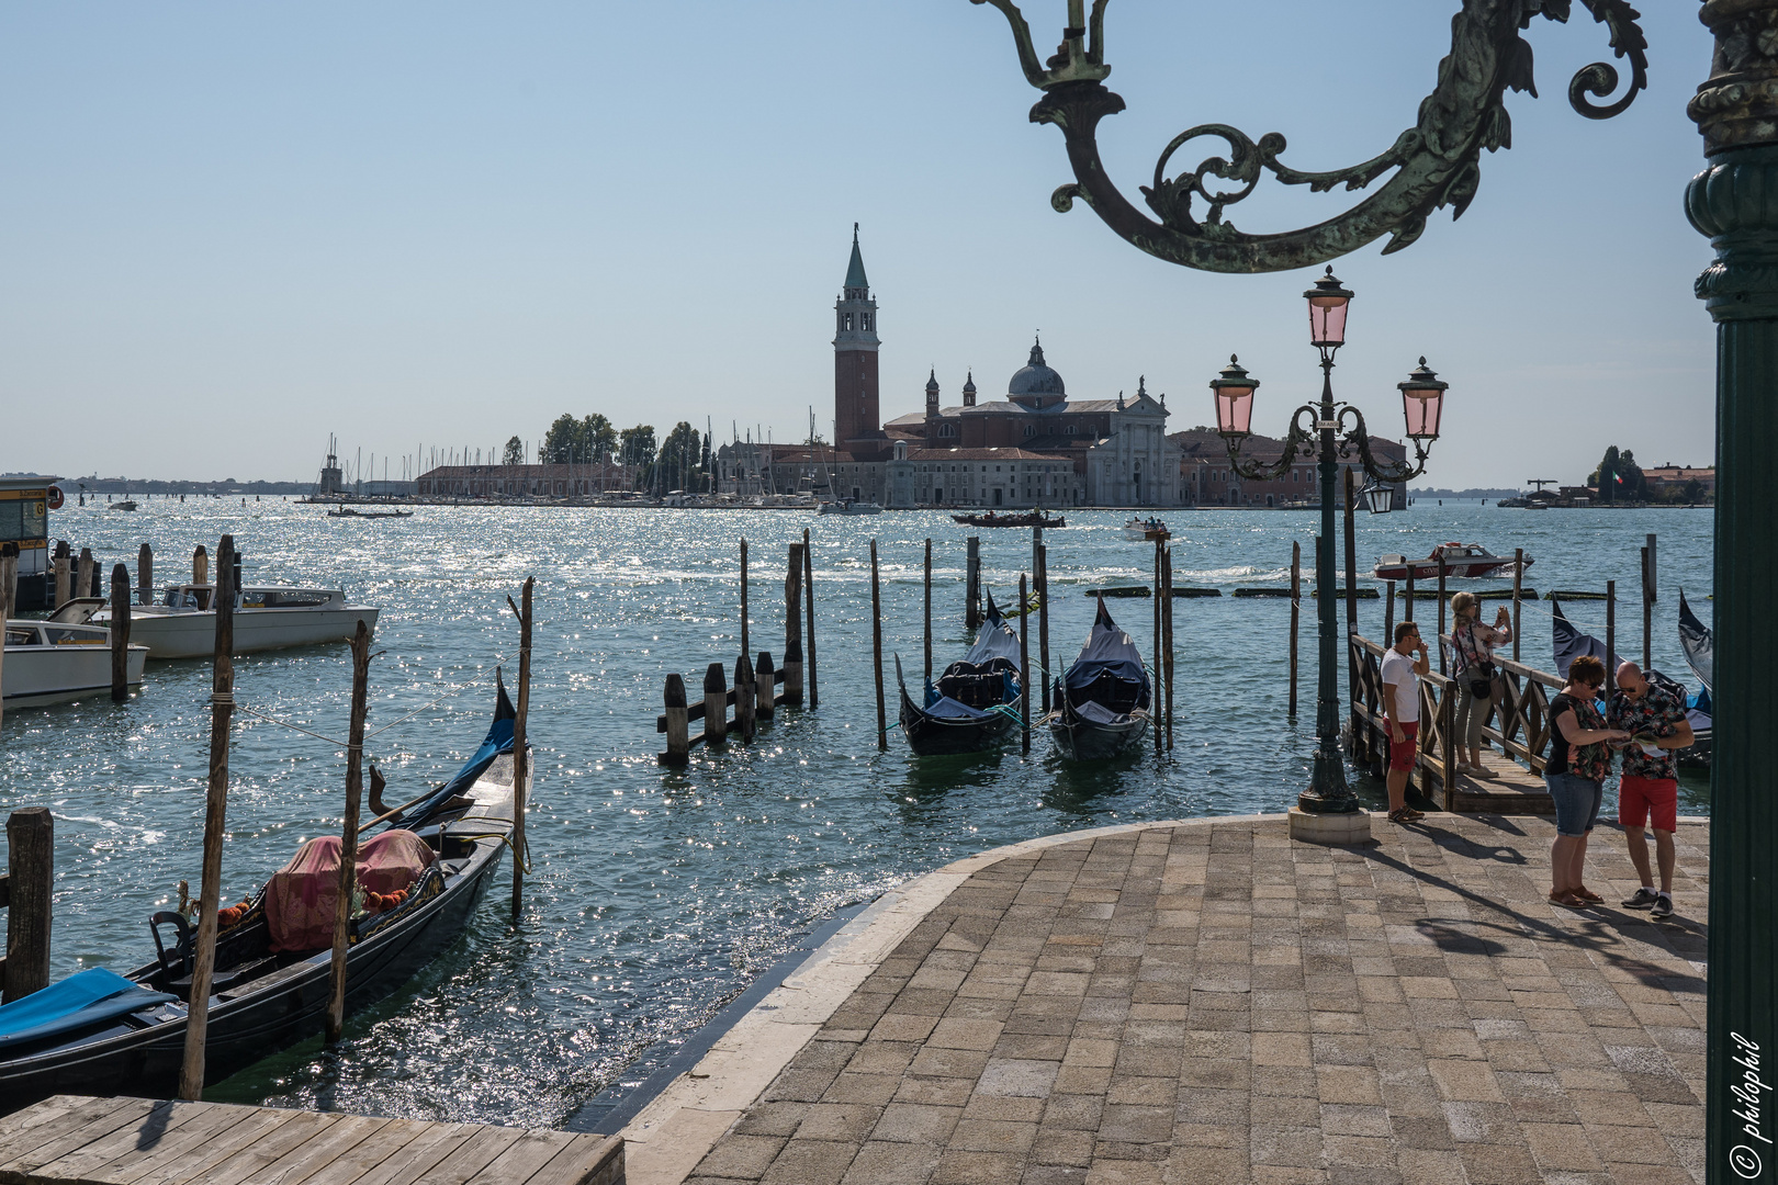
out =
<path fill-rule="evenodd" d="M 1143 583 L 1152 549 L 1124 542 L 1127 515 L 1069 513 L 1049 531 L 1051 664 L 1072 661 L 1092 622 L 1081 590 Z M 1314 512 L 1172 512 L 1175 583 L 1280 583 L 1291 540 L 1312 572 Z M 480 741 L 493 663 L 517 648 L 505 606 L 537 576 L 530 736 L 537 748 L 528 823 L 535 871 L 514 927 L 505 876 L 464 942 L 407 990 L 347 1025 L 336 1050 L 309 1041 L 210 1093 L 229 1101 L 338 1107 L 388 1116 L 558 1125 L 661 1038 L 695 1029 L 795 934 L 837 908 L 958 856 L 1113 823 L 1285 810 L 1309 778 L 1314 732 L 1314 602 L 1303 600 L 1301 714 L 1285 716 L 1289 602 L 1179 600 L 1175 750 L 1077 769 L 1033 739 L 980 759 L 914 760 L 898 732 L 875 750 L 869 663 L 869 538 L 882 556 L 884 647 L 917 677 L 921 544 L 933 538 L 933 661 L 964 645 L 962 528 L 942 513 L 816 519 L 789 512 L 420 508 L 405 521 L 327 519 L 318 506 L 267 501 L 144 501 L 107 513 L 68 508 L 57 535 L 110 565 L 156 549 L 158 583 L 188 572 L 197 544 L 231 531 L 249 579 L 343 585 L 382 606 L 372 664 L 377 728 L 482 679 L 368 744 L 388 801 L 448 776 Z M 786 545 L 814 533 L 820 712 L 781 714 L 750 748 L 693 750 L 663 771 L 654 753 L 661 682 L 738 652 L 736 538 L 752 553 L 752 647 L 782 656 Z M 1474 503 L 1358 517 L 1360 569 L 1378 554 L 1424 556 L 1444 540 L 1515 545 L 1536 558 L 1527 583 L 1620 586 L 1622 654 L 1638 654 L 1638 547 L 1661 537 L 1654 657 L 1689 672 L 1675 616 L 1684 585 L 1709 620 L 1710 512 L 1499 510 Z M 1029 531 L 981 535 L 985 579 L 1015 597 Z M 1305 574 L 1305 581 L 1309 576 Z M 1472 586 L 1499 588 L 1504 581 Z M 1150 600 L 1111 611 L 1147 648 Z M 1526 608 L 1526 659 L 1549 666 L 1549 616 Z M 1604 604 L 1570 616 L 1604 634 Z M 1382 632 L 1380 600 L 1360 631 Z M 1417 616 L 1430 620 L 1431 602 Z M 1037 634 L 1033 620 L 1033 661 Z M 1344 663 L 1341 663 L 1344 666 Z M 510 672 L 509 672 L 510 673 Z M 889 718 L 894 720 L 893 668 Z M 55 812 L 55 975 L 128 968 L 151 950 L 148 915 L 196 885 L 208 744 L 206 663 L 153 663 L 140 695 L 5 716 L 0 812 Z M 240 659 L 236 696 L 268 716 L 341 737 L 347 648 Z M 226 901 L 252 892 L 308 837 L 336 831 L 343 753 L 236 714 Z M 1360 782 L 1376 805 L 1382 785 Z M 1707 810 L 1687 776 L 1682 810 Z"/>

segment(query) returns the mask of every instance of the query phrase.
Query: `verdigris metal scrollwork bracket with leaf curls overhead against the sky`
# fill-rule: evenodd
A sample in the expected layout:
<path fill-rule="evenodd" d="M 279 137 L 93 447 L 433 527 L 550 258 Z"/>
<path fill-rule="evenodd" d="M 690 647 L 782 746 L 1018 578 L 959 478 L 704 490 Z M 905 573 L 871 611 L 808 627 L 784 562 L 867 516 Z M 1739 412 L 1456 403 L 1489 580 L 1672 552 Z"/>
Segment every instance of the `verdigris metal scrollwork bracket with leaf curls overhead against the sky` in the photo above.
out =
<path fill-rule="evenodd" d="M 1531 43 L 1520 32 L 1538 16 L 1566 21 L 1574 5 L 1574 0 L 1463 0 L 1451 18 L 1451 53 L 1438 62 L 1438 82 L 1421 103 L 1415 124 L 1387 151 L 1348 169 L 1303 172 L 1285 165 L 1280 160 L 1285 139 L 1277 131 L 1255 140 L 1229 124 L 1207 123 L 1179 133 L 1163 149 L 1152 185 L 1141 187 L 1156 220 L 1111 185 L 1099 158 L 1099 121 L 1124 110 L 1124 99 L 1104 85 L 1111 73 L 1104 62 L 1106 0 L 1093 0 L 1090 16 L 1083 0 L 1069 0 L 1070 23 L 1056 53 L 1044 60 L 1013 0 L 971 2 L 990 4 L 1006 16 L 1024 76 L 1044 92 L 1031 108 L 1031 121 L 1056 124 L 1067 140 L 1076 179 L 1060 187 L 1051 204 L 1067 211 L 1081 199 L 1149 254 L 1209 272 L 1309 266 L 1385 235 L 1390 236 L 1383 247 L 1389 254 L 1414 243 L 1435 211 L 1449 206 L 1454 219 L 1462 217 L 1481 183 L 1481 151 L 1511 147 L 1506 92 L 1524 91 L 1533 98 L 1538 92 Z M 1606 27 L 1613 53 L 1627 59 L 1630 75 L 1625 82 L 1607 62 L 1584 66 L 1568 84 L 1568 101 L 1588 119 L 1609 119 L 1648 87 L 1648 41 L 1629 0 L 1579 2 Z M 1609 103 L 1595 101 L 1613 94 Z M 1227 151 L 1168 176 L 1173 156 L 1202 139 L 1221 140 Z M 1326 222 L 1280 235 L 1248 235 L 1236 229 L 1225 211 L 1252 194 L 1266 172 L 1317 194 L 1371 190 L 1380 178 L 1390 176 Z"/>

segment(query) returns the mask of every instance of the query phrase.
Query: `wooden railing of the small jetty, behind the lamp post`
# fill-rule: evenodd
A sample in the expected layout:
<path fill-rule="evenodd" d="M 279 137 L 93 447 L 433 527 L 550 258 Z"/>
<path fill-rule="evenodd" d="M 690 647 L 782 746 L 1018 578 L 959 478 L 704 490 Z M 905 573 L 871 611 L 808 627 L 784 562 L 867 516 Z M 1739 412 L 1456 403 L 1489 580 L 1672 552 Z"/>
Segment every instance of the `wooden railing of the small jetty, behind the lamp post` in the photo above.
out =
<path fill-rule="evenodd" d="M 1444 638 L 1442 641 L 1449 641 Z M 1382 776 L 1389 767 L 1389 725 L 1383 718 L 1385 647 L 1362 634 L 1350 634 L 1350 716 L 1353 762 Z M 1549 760 L 1550 689 L 1563 680 L 1534 666 L 1494 657 L 1501 673 L 1501 695 L 1483 725 L 1481 736 L 1520 762 L 1529 778 L 1542 778 Z M 1410 785 L 1428 798 L 1437 787 L 1456 785 L 1462 744 L 1456 739 L 1456 680 L 1438 672 L 1421 675 L 1419 755 Z M 1437 798 L 1435 798 L 1437 801 Z"/>

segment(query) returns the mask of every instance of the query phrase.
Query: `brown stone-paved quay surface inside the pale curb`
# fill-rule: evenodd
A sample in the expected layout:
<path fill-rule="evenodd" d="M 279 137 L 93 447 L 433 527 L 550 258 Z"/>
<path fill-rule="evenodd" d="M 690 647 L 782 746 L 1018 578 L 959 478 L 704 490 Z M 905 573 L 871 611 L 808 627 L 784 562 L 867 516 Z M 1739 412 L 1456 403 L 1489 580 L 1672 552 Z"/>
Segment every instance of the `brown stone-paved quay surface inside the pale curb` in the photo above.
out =
<path fill-rule="evenodd" d="M 1614 828 L 1590 913 L 1545 903 L 1549 821 L 1374 833 L 1200 819 L 976 858 L 690 1180 L 1703 1181 L 1707 823 L 1661 924 L 1616 908 Z"/>

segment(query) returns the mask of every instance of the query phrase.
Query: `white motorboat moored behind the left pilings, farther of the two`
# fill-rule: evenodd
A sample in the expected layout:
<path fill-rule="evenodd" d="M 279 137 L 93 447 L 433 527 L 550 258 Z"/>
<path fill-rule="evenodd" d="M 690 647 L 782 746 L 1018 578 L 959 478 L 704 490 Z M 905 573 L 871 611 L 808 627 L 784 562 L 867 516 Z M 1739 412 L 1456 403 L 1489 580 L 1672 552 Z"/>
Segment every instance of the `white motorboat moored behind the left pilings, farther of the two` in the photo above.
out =
<path fill-rule="evenodd" d="M 208 657 L 217 638 L 213 593 L 215 585 L 174 585 L 160 604 L 130 606 L 130 641 L 146 645 L 151 659 Z M 110 622 L 110 609 L 94 609 L 87 620 Z M 377 609 L 347 604 L 338 588 L 247 585 L 235 599 L 235 654 L 347 641 L 359 622 L 375 631 Z"/>

